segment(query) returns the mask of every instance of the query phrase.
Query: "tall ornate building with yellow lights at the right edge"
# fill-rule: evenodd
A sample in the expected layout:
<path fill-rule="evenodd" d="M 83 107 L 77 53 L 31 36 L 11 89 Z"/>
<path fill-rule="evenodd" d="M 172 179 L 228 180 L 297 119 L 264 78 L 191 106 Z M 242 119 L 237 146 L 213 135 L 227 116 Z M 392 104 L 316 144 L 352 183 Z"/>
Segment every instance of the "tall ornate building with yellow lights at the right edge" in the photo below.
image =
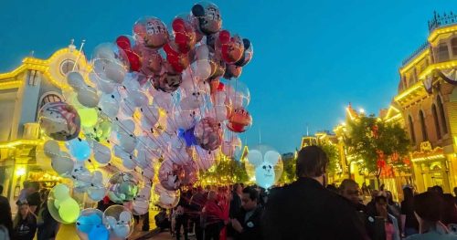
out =
<path fill-rule="evenodd" d="M 427 41 L 399 68 L 399 106 L 418 191 L 457 183 L 457 16 L 435 13 Z"/>

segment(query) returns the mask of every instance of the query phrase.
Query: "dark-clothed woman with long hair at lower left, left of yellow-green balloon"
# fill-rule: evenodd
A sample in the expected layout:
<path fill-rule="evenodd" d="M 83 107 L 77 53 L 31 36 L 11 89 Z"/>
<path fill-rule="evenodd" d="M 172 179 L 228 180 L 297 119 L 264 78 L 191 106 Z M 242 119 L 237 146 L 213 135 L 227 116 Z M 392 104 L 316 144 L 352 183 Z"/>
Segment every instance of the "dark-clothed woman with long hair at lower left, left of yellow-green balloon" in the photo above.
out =
<path fill-rule="evenodd" d="M 14 221 L 15 237 L 13 239 L 32 240 L 37 232 L 37 217 L 30 211 L 27 202 L 19 202 L 18 207 L 19 210 Z"/>

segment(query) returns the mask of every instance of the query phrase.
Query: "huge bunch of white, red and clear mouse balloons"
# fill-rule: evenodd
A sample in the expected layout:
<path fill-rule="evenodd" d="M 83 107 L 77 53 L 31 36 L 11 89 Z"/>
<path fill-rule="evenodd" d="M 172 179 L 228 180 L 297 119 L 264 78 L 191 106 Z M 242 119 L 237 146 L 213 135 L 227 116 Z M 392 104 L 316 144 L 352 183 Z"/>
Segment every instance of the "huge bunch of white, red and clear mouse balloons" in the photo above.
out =
<path fill-rule="evenodd" d="M 252 124 L 250 91 L 238 79 L 253 55 L 250 40 L 222 29 L 211 3 L 192 6 L 169 26 L 144 16 L 133 36 L 95 47 L 90 68 L 75 68 L 64 80 L 65 101 L 39 112 L 49 139 L 37 154 L 73 182 L 72 191 L 59 186 L 51 194 L 53 216 L 74 223 L 80 215 L 86 237 L 127 237 L 132 213 L 146 213 L 151 200 L 174 207 L 179 188 L 196 183 L 198 171 L 240 151 L 238 134 Z M 132 207 L 76 214 L 73 192 Z M 70 205 L 71 214 L 62 215 Z"/>

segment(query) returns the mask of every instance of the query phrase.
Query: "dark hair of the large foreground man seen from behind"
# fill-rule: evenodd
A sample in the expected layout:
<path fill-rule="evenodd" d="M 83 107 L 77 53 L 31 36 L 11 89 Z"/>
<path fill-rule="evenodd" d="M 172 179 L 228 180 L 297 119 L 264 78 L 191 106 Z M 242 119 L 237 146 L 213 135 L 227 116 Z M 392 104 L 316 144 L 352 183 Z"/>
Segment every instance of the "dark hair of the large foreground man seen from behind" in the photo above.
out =
<path fill-rule="evenodd" d="M 317 146 L 307 146 L 298 152 L 296 172 L 298 177 L 318 177 L 325 173 L 328 157 Z"/>

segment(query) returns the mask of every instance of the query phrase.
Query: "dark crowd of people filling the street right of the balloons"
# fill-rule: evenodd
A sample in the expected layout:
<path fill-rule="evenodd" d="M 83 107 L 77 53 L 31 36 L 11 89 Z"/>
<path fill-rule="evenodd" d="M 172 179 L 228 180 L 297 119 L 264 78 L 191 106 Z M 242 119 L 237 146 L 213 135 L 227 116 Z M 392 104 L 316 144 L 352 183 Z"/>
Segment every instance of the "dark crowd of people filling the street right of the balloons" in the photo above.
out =
<path fill-rule="evenodd" d="M 237 183 L 190 188 L 169 214 L 155 216 L 176 239 L 457 239 L 456 197 L 440 186 L 426 193 L 403 188 L 403 201 L 381 185 L 360 188 L 352 179 L 326 184 L 328 158 L 316 146 L 299 151 L 297 181 L 269 193 Z M 457 188 L 454 190 L 457 195 Z M 364 203 L 362 196 L 371 196 Z"/>

